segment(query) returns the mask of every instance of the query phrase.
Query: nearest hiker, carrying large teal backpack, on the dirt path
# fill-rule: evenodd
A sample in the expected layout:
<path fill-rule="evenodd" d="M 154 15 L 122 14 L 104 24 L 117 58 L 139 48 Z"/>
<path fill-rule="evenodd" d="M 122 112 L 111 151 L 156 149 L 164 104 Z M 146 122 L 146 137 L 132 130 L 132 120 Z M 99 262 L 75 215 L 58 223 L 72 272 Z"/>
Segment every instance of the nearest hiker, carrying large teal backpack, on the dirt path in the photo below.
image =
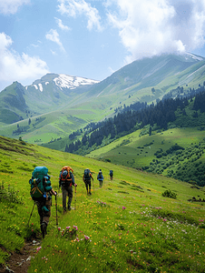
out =
<path fill-rule="evenodd" d="M 38 208 L 40 227 L 44 238 L 47 234 L 46 228 L 51 216 L 51 199 L 53 195 L 57 195 L 51 186 L 47 167 L 35 167 L 29 184 L 31 185 L 31 197 Z"/>

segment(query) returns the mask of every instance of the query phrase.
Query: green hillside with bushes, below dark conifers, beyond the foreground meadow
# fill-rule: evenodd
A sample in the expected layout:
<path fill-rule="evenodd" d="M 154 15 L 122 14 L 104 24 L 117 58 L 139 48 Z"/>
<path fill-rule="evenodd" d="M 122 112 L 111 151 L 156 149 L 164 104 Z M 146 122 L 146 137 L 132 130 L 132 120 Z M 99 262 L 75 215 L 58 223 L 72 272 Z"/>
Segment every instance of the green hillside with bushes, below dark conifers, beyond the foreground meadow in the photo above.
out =
<path fill-rule="evenodd" d="M 141 136 L 142 130 L 94 150 L 93 157 L 204 186 L 205 131 L 172 128 Z"/>

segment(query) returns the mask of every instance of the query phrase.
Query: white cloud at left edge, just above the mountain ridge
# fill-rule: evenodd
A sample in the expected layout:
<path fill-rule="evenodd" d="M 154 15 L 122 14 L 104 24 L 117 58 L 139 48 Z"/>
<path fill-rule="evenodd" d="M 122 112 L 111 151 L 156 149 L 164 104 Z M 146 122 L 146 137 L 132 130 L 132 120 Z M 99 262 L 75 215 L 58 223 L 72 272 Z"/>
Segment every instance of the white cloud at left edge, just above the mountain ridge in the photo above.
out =
<path fill-rule="evenodd" d="M 44 76 L 47 72 L 46 63 L 38 56 L 20 56 L 11 45 L 10 36 L 0 33 L 0 82 L 25 81 Z"/>

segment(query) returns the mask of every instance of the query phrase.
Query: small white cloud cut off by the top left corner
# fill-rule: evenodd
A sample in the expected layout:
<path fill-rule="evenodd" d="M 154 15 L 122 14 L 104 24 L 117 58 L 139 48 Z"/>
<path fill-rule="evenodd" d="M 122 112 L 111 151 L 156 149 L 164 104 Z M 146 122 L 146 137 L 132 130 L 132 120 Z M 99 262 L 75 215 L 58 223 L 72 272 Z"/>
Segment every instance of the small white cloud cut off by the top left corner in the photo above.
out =
<path fill-rule="evenodd" d="M 30 0 L 0 0 L 0 14 L 14 15 L 19 6 L 29 3 Z"/>

